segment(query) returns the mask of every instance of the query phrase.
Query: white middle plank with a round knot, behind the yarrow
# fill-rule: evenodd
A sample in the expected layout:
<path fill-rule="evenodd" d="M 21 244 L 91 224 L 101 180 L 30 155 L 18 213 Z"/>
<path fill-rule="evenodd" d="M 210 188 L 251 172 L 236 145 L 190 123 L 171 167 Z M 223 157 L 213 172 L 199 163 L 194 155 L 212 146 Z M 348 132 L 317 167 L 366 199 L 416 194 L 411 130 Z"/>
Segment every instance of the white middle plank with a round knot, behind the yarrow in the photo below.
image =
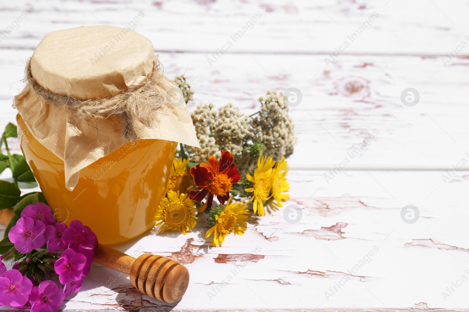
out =
<path fill-rule="evenodd" d="M 8 107 L 22 87 L 21 60 L 30 51 L 0 53 L 1 66 L 9 73 L 0 77 L 0 102 Z M 448 170 L 463 158 L 469 160 L 464 82 L 469 80 L 468 59 L 446 68 L 438 58 L 413 56 L 343 55 L 331 68 L 320 55 L 227 54 L 212 67 L 204 59 L 201 53 L 161 54 L 168 77 L 186 73 L 191 81 L 196 91 L 191 109 L 201 103 L 219 107 L 231 102 L 252 114 L 266 90 L 301 90 L 303 102 L 290 110 L 299 138 L 289 159 L 293 168 L 327 172 L 344 167 L 340 164 L 348 158 L 348 170 Z M 350 93 L 350 85 L 362 91 Z M 420 94 L 414 107 L 400 100 L 407 87 Z M 15 110 L 6 109 L 0 127 L 14 116 Z M 369 146 L 353 152 L 374 130 L 379 133 L 365 142 Z"/>

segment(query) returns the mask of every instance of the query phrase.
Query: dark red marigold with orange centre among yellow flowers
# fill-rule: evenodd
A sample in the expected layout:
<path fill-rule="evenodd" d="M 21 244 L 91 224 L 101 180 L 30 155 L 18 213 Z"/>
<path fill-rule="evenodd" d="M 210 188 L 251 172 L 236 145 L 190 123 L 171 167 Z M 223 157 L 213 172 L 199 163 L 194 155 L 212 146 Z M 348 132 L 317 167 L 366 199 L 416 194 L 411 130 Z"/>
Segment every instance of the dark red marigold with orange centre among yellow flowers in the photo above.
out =
<path fill-rule="evenodd" d="M 190 174 L 194 177 L 194 184 L 202 189 L 191 189 L 190 199 L 201 202 L 205 196 L 207 201 L 199 209 L 199 212 L 212 207 L 213 196 L 217 196 L 220 203 L 224 204 L 230 198 L 230 190 L 233 184 L 241 179 L 238 168 L 233 162 L 233 155 L 228 151 L 221 151 L 219 161 L 213 156 L 209 156 L 208 164 L 203 162 L 190 169 Z"/>

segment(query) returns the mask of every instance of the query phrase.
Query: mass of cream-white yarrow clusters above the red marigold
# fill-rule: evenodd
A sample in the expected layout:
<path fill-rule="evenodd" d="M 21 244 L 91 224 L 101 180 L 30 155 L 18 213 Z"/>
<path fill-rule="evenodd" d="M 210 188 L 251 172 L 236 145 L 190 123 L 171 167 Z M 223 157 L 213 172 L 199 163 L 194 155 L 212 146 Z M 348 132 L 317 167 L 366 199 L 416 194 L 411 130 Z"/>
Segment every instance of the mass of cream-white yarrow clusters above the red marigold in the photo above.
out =
<path fill-rule="evenodd" d="M 257 166 L 259 155 L 279 161 L 293 153 L 296 143 L 294 124 L 280 92 L 267 91 L 260 97 L 260 112 L 253 118 L 228 104 L 214 109 L 213 104 L 199 105 L 191 114 L 201 148 L 191 147 L 190 160 L 208 162 L 228 151 L 242 174 Z"/>

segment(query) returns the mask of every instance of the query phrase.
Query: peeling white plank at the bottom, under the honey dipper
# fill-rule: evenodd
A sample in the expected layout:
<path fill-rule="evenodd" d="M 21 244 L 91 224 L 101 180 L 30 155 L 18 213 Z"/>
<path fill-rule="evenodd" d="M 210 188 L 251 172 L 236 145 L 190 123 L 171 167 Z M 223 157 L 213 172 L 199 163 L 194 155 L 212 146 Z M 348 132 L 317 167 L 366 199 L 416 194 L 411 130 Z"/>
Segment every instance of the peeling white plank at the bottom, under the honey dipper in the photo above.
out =
<path fill-rule="evenodd" d="M 190 284 L 177 305 L 142 296 L 131 289 L 127 276 L 93 264 L 82 291 L 63 307 L 469 311 L 469 282 L 458 282 L 462 275 L 469 276 L 469 241 L 461 232 L 469 218 L 469 181 L 465 172 L 458 181 L 439 186 L 440 174 L 351 171 L 325 184 L 322 172 L 291 171 L 291 200 L 285 207 L 301 208 L 295 224 L 287 222 L 283 210 L 275 211 L 252 220 L 244 235 L 230 234 L 222 247 L 210 247 L 203 215 L 187 235 L 155 236 L 154 230 L 116 247 L 132 256 L 159 254 L 184 263 Z M 401 219 L 401 209 L 408 204 L 420 211 L 414 224 Z M 453 282 L 462 284 L 453 286 L 450 294 L 446 287 Z M 331 290 L 337 283 L 341 288 Z M 443 291 L 449 295 L 446 300 Z"/>

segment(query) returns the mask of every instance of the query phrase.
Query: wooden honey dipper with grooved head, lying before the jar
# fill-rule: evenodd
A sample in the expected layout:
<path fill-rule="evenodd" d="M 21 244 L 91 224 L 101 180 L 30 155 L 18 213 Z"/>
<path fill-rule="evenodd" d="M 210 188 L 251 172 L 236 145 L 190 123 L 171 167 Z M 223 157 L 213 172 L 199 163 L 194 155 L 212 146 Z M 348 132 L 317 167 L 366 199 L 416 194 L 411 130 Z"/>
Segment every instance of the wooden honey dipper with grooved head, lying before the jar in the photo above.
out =
<path fill-rule="evenodd" d="M 0 224 L 8 225 L 13 208 L 0 210 Z M 174 303 L 179 301 L 189 285 L 189 271 L 181 263 L 166 257 L 142 254 L 138 258 L 98 244 L 94 262 L 130 276 L 136 289 L 152 298 Z"/>

